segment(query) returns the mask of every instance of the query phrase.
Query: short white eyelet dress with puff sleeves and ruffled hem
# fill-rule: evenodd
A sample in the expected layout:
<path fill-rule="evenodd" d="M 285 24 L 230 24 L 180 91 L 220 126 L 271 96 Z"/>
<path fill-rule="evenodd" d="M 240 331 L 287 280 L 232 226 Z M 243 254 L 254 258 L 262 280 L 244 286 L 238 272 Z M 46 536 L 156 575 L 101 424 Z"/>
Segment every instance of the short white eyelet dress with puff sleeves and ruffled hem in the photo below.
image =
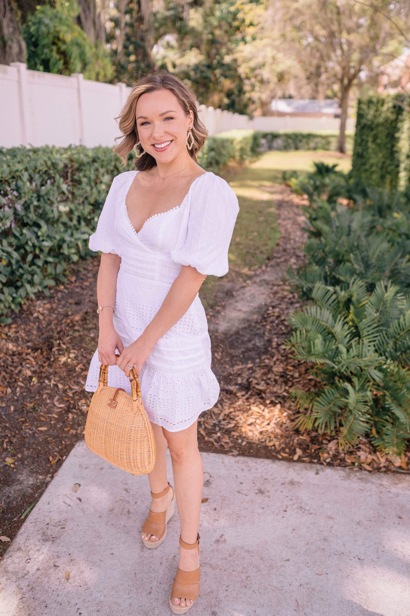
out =
<path fill-rule="evenodd" d="M 90 236 L 89 248 L 121 257 L 117 277 L 114 327 L 124 347 L 134 342 L 157 314 L 181 265 L 200 274 L 223 276 L 239 212 L 237 197 L 227 182 L 208 171 L 192 182 L 181 205 L 154 214 L 136 232 L 125 197 L 138 171 L 114 177 Z M 98 387 L 100 363 L 96 349 L 85 391 Z M 154 345 L 143 363 L 141 396 L 152 423 L 170 432 L 189 428 L 219 397 L 211 370 L 211 340 L 200 301 Z M 108 385 L 131 393 L 130 381 L 117 365 L 108 367 Z"/>

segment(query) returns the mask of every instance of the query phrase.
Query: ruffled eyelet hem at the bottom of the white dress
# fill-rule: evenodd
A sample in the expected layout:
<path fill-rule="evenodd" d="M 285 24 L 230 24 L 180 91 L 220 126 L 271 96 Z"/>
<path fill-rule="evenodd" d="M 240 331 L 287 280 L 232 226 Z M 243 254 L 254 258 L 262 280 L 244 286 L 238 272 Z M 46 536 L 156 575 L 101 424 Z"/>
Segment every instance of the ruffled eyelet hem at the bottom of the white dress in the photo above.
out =
<path fill-rule="evenodd" d="M 95 351 L 85 382 L 85 391 L 98 387 L 100 362 Z M 189 428 L 199 415 L 212 408 L 219 397 L 219 383 L 210 368 L 183 374 L 164 373 L 144 363 L 140 376 L 141 397 L 149 421 L 168 432 Z M 109 387 L 122 387 L 131 394 L 130 379 L 117 365 L 108 367 Z M 192 394 L 189 394 L 192 392 Z"/>

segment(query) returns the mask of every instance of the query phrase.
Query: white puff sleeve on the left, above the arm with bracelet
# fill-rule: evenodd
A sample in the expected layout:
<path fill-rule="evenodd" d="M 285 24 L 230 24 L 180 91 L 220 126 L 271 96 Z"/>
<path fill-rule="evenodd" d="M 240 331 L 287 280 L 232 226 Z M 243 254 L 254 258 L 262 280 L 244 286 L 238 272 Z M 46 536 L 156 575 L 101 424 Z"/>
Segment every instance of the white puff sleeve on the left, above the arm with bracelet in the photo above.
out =
<path fill-rule="evenodd" d="M 116 231 L 117 201 L 120 188 L 120 176 L 114 177 L 108 195 L 98 218 L 97 229 L 90 235 L 89 248 L 95 252 L 112 253 L 121 256 L 122 248 L 118 232 Z"/>

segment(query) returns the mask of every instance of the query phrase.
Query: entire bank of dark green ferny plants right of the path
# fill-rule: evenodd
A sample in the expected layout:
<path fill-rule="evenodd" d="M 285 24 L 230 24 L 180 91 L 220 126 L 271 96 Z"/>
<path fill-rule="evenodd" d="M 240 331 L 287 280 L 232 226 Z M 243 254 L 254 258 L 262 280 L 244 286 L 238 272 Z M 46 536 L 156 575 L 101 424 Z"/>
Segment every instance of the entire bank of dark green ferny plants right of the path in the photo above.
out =
<path fill-rule="evenodd" d="M 306 262 L 288 277 L 304 310 L 286 346 L 312 363 L 319 390 L 295 389 L 296 426 L 371 436 L 402 453 L 410 439 L 410 195 L 380 192 L 317 164 L 288 184 L 309 197 Z"/>

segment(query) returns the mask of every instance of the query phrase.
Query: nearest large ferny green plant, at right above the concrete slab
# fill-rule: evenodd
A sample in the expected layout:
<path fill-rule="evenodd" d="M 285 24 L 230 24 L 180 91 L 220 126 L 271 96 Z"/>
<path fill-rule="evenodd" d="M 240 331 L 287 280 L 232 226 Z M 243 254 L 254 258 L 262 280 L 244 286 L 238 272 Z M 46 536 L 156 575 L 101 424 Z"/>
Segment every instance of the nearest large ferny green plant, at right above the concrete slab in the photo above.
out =
<path fill-rule="evenodd" d="M 353 277 L 318 282 L 312 300 L 290 316 L 285 344 L 312 363 L 322 387 L 291 392 L 301 410 L 295 425 L 334 434 L 343 449 L 371 434 L 377 448 L 400 455 L 410 439 L 410 294 L 382 281 L 369 294 Z"/>

